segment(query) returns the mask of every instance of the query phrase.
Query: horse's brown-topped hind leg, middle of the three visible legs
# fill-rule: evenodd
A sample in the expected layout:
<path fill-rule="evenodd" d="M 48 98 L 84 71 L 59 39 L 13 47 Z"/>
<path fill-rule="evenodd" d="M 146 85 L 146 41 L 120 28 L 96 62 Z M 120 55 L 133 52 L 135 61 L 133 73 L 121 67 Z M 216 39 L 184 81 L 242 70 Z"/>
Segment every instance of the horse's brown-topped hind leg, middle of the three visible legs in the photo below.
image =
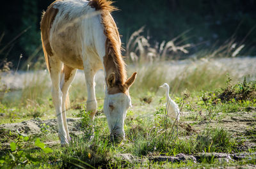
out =
<path fill-rule="evenodd" d="M 70 68 L 67 65 L 64 65 L 63 71 L 61 73 L 61 91 L 62 91 L 62 119 L 63 124 L 65 127 L 65 131 L 67 133 L 67 139 L 68 141 L 71 140 L 69 133 L 68 133 L 68 126 L 67 126 L 67 117 L 66 117 L 66 108 L 68 107 L 68 89 L 70 87 L 70 84 L 73 82 L 74 77 L 76 76 L 76 69 Z"/>

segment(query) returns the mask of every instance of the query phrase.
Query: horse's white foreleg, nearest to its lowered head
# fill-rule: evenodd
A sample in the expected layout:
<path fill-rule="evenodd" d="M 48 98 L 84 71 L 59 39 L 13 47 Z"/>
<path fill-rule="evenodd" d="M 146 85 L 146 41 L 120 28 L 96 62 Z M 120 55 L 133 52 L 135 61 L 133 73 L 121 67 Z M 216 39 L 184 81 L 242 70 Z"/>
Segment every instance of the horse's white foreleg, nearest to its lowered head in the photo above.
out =
<path fill-rule="evenodd" d="M 95 73 L 96 70 L 92 68 L 90 64 L 84 65 L 84 75 L 86 80 L 88 99 L 86 101 L 86 111 L 90 112 L 91 119 L 94 119 L 94 115 L 97 110 L 97 101 L 95 97 Z"/>

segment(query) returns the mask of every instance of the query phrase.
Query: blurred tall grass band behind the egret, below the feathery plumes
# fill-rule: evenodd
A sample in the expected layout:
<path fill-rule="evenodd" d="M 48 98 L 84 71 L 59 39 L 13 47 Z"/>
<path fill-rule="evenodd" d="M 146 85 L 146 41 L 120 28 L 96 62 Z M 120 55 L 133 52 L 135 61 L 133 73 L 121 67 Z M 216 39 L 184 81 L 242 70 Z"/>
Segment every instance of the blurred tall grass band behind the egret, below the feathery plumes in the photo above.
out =
<path fill-rule="evenodd" d="M 196 61 L 189 64 L 173 64 L 157 62 L 137 67 L 128 67 L 131 71 L 138 71 L 136 81 L 131 87 L 131 92 L 157 92 L 159 85 L 168 83 L 175 94 L 180 94 L 184 90 L 201 91 L 213 90 L 225 85 L 227 74 L 235 81 L 235 74 L 231 68 L 216 66 L 212 61 Z"/>

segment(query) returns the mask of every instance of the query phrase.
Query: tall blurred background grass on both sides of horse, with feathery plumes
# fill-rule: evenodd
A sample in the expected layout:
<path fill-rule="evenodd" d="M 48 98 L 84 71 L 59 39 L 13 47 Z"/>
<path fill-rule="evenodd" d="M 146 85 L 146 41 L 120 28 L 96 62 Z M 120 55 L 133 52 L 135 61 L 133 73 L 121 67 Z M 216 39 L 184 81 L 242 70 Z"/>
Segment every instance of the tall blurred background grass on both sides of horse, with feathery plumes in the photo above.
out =
<path fill-rule="evenodd" d="M 141 27 L 134 32 L 127 42 L 128 75 L 131 75 L 133 71 L 138 71 L 138 76 L 131 87 L 132 96 L 157 92 L 159 85 L 164 82 L 171 86 L 172 93 L 179 95 L 186 89 L 201 91 L 223 87 L 227 73 L 234 81 L 237 80 L 232 68 L 225 68 L 225 64 L 219 65 L 218 62 L 214 62 L 214 57 L 236 56 L 242 50 L 243 44 L 236 43 L 234 38 L 230 38 L 225 45 L 215 50 L 198 52 L 196 57 L 193 57 L 193 61 L 191 59 L 173 62 L 173 59 L 184 57 L 189 53 L 189 48 L 194 47 L 193 44 L 188 44 L 182 39 L 188 31 L 170 41 L 152 44 L 149 36 L 143 36 L 143 30 L 144 27 Z M 0 40 L 2 38 L 3 36 L 0 37 Z M 1 51 L 3 52 L 3 50 Z M 195 60 L 198 57 L 207 59 Z M 43 57 L 40 58 L 42 60 Z M 40 71 L 45 67 L 41 60 L 38 59 L 38 62 L 33 64 L 33 71 L 27 72 L 28 75 L 24 76 L 24 80 L 20 84 L 22 87 L 17 92 L 12 90 L 7 94 L 1 92 L 0 98 L 3 103 L 21 105 L 22 107 L 27 105 L 40 107 L 44 103 L 51 105 L 51 80 L 48 73 Z M 96 84 L 96 96 L 102 105 L 105 92 L 104 73 L 97 73 Z M 4 84 L 2 86 L 4 87 Z M 3 89 L 1 90 L 3 91 Z M 13 94 L 19 96 L 13 97 Z M 77 77 L 70 87 L 70 98 L 71 105 L 86 101 L 87 90 L 83 72 L 77 73 Z"/>

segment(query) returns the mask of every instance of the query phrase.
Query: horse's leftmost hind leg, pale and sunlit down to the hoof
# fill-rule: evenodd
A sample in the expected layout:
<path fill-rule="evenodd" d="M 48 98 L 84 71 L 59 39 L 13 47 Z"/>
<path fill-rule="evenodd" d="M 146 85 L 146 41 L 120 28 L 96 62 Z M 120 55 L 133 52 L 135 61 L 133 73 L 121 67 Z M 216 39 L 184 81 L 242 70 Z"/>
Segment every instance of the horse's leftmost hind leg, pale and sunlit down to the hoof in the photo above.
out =
<path fill-rule="evenodd" d="M 61 144 L 68 143 L 67 133 L 63 124 L 63 118 L 61 114 L 62 92 L 60 89 L 60 75 L 61 75 L 62 62 L 52 55 L 49 57 L 49 67 L 52 80 L 52 102 L 54 104 L 57 122 L 58 122 L 58 135 Z"/>

